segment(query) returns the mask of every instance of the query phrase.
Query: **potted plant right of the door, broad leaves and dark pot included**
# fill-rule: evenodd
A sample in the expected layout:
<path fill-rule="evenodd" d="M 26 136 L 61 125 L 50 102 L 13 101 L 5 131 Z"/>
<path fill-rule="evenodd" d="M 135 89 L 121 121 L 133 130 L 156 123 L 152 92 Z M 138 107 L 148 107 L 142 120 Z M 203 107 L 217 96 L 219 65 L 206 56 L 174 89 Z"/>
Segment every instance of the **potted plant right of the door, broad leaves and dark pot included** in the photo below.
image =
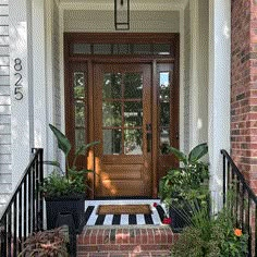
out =
<path fill-rule="evenodd" d="M 182 166 L 170 169 L 161 178 L 159 196 L 169 209 L 171 228 L 180 232 L 191 223 L 192 201 L 197 206 L 208 204 L 208 164 L 200 161 L 208 152 L 208 146 L 206 143 L 197 145 L 188 155 L 173 147 L 169 149 Z"/>

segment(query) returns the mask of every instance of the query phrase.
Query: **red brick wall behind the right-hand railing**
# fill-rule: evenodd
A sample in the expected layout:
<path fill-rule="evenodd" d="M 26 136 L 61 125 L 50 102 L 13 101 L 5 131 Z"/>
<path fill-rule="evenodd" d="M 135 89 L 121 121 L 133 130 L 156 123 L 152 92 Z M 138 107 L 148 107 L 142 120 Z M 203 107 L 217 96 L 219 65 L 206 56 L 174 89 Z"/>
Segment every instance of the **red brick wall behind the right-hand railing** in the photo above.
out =
<path fill-rule="evenodd" d="M 232 157 L 257 192 L 257 1 L 232 0 Z"/>

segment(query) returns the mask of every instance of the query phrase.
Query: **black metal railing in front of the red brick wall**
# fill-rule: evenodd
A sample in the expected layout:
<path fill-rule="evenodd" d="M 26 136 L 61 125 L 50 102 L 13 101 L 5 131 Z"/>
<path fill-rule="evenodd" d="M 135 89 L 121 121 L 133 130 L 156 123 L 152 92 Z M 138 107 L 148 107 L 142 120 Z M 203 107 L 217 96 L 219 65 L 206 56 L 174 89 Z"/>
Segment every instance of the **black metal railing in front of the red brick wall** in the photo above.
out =
<path fill-rule="evenodd" d="M 228 192 L 232 193 L 229 208 L 235 217 L 236 225 L 249 235 L 248 256 L 257 256 L 257 197 L 248 186 L 244 175 L 225 150 L 223 156 L 223 204 L 228 204 Z M 227 205 L 228 206 L 228 205 Z"/>

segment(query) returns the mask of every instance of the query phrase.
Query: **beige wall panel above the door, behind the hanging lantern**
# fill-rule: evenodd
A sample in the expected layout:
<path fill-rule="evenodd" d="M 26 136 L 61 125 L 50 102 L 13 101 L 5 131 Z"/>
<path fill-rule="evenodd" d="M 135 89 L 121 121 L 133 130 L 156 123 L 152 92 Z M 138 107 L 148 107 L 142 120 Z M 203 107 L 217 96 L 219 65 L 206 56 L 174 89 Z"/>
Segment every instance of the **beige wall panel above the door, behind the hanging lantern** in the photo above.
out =
<path fill-rule="evenodd" d="M 113 11 L 65 10 L 65 32 L 114 32 Z M 179 11 L 132 11 L 132 32 L 178 33 Z"/>

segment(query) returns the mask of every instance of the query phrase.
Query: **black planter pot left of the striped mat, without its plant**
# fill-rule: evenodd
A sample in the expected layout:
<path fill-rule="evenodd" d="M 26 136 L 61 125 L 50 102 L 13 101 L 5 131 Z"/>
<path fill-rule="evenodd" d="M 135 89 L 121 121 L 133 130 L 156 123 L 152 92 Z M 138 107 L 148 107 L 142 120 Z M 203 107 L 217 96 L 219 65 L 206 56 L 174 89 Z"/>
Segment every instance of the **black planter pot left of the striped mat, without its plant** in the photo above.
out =
<path fill-rule="evenodd" d="M 60 215 L 71 213 L 76 232 L 82 232 L 85 212 L 85 195 L 71 197 L 46 197 L 45 199 L 48 230 L 57 228 L 57 220 Z"/>

